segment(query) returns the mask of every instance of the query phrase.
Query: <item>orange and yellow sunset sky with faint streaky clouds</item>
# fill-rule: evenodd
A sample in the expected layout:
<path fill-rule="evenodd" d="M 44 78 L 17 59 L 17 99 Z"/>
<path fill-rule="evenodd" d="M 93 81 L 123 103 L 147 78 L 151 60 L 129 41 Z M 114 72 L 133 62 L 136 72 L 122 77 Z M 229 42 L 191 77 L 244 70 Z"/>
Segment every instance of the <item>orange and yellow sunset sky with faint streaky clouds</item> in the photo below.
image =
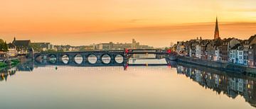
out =
<path fill-rule="evenodd" d="M 90 45 L 171 42 L 256 34 L 255 0 L 0 0 L 0 38 Z"/>

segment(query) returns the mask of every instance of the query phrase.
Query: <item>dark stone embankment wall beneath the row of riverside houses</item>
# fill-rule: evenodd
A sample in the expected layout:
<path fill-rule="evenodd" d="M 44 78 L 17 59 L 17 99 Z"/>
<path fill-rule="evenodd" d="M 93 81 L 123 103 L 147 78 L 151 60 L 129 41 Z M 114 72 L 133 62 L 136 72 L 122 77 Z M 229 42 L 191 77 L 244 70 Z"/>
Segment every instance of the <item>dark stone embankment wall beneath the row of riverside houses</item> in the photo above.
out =
<path fill-rule="evenodd" d="M 256 75 L 256 69 L 245 67 L 239 64 L 230 64 L 230 63 L 223 63 L 223 62 L 213 62 L 206 59 L 198 59 L 193 57 L 177 57 L 177 62 L 184 62 L 188 64 L 196 64 L 203 67 L 209 67 L 212 69 L 218 69 L 221 71 L 228 71 L 238 74 L 245 74 L 245 75 Z"/>

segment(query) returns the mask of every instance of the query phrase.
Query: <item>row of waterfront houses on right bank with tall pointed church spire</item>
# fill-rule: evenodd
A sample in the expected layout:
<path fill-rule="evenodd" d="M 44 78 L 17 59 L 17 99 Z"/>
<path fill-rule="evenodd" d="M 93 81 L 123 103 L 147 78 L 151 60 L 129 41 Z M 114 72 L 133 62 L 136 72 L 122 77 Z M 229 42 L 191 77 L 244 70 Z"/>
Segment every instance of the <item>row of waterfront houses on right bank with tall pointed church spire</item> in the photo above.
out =
<path fill-rule="evenodd" d="M 182 56 L 256 67 L 256 35 L 252 35 L 248 40 L 221 39 L 216 18 L 213 40 L 196 38 L 186 42 L 178 41 L 176 52 Z"/>

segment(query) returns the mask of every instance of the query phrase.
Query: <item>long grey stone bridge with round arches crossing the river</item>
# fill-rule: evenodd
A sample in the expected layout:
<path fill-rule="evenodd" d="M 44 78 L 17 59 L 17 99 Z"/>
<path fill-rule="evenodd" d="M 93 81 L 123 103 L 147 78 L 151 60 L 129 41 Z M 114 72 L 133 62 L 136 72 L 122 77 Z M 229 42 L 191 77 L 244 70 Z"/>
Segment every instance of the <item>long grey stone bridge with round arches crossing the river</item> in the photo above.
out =
<path fill-rule="evenodd" d="M 85 52 L 47 52 L 35 53 L 33 59 L 38 64 L 74 65 L 74 66 L 126 66 L 132 54 L 168 55 L 168 51 L 156 49 L 124 49 Z M 80 58 L 76 62 L 75 58 Z M 66 62 L 63 62 L 63 59 Z"/>

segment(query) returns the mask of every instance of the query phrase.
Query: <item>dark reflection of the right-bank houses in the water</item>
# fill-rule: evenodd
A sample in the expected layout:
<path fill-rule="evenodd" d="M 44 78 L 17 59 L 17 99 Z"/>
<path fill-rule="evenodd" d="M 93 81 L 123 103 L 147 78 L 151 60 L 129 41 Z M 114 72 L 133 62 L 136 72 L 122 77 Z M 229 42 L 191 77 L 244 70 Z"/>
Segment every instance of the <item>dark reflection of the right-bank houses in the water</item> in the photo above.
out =
<path fill-rule="evenodd" d="M 218 94 L 224 93 L 230 98 L 236 98 L 238 95 L 243 96 L 246 102 L 256 107 L 255 78 L 248 79 L 249 77 L 228 75 L 226 73 L 214 74 L 210 73 L 210 71 L 201 71 L 181 65 L 178 65 L 177 73 L 186 75 L 189 79 L 196 81 L 204 88 L 210 88 Z"/>

